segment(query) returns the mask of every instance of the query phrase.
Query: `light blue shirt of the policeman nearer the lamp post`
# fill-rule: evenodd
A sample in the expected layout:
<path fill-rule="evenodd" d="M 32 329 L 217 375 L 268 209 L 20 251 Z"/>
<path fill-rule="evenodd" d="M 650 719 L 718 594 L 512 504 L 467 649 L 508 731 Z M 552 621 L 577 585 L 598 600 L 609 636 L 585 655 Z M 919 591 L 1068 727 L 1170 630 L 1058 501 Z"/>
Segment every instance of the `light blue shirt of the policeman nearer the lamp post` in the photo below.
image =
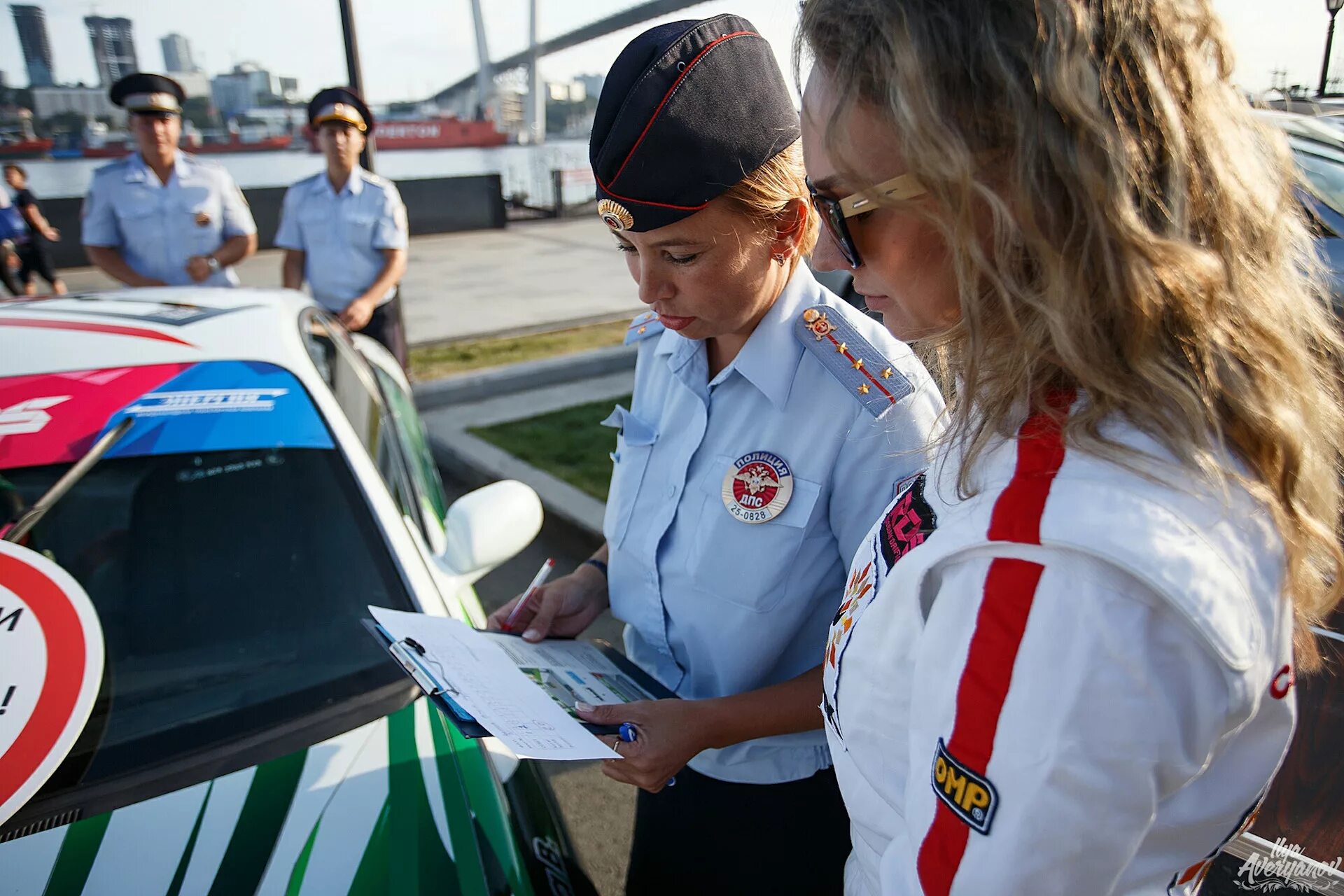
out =
<path fill-rule="evenodd" d="M 396 185 L 356 165 L 339 193 L 325 171 L 290 187 L 276 246 L 304 253 L 304 279 L 313 298 L 340 313 L 383 273 L 384 249 L 406 249 L 406 206 Z M 382 301 L 395 294 L 392 286 Z"/>

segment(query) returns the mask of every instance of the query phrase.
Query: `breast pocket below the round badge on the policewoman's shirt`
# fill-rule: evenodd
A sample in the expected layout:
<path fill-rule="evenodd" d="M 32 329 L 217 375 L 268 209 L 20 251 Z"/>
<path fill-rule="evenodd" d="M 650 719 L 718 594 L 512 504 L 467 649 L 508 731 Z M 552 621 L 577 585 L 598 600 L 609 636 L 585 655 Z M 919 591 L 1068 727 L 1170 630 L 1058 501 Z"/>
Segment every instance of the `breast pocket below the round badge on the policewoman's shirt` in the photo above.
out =
<path fill-rule="evenodd" d="M 784 599 L 821 485 L 794 476 L 793 494 L 774 519 L 743 523 L 723 504 L 722 474 L 732 463 L 727 454 L 714 459 L 720 480 L 704 482 L 687 571 L 700 591 L 766 613 Z"/>

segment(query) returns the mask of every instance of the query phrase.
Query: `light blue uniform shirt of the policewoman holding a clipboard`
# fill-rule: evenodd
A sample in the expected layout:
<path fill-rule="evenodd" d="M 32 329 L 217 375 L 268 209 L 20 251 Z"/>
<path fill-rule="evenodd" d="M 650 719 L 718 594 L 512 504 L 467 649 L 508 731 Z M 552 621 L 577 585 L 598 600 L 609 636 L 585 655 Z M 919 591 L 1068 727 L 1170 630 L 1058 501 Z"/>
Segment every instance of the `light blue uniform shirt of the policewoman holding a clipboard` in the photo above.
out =
<path fill-rule="evenodd" d="M 882 418 L 794 334 L 814 305 L 844 317 L 910 380 Z M 603 531 L 612 613 L 629 657 L 681 697 L 723 697 L 821 665 L 844 576 L 896 482 L 926 466 L 942 396 L 910 349 L 800 266 L 714 380 L 706 344 L 672 330 L 640 343 Z M 780 455 L 793 496 L 767 523 L 728 513 L 724 474 L 751 451 Z M 820 689 L 817 701 L 820 704 Z M 817 729 L 691 760 L 720 780 L 778 783 L 831 766 Z"/>

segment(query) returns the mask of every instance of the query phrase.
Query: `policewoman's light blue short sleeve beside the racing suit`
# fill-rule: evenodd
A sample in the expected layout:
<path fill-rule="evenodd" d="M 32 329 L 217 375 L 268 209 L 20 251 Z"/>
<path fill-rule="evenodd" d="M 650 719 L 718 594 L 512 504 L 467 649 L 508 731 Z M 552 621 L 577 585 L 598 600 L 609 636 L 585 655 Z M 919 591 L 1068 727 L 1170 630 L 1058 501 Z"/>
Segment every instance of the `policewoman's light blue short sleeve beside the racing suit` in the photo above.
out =
<path fill-rule="evenodd" d="M 828 513 L 845 568 L 895 486 L 929 465 L 943 403 L 931 380 L 917 388 L 880 419 L 860 407 L 836 457 Z"/>

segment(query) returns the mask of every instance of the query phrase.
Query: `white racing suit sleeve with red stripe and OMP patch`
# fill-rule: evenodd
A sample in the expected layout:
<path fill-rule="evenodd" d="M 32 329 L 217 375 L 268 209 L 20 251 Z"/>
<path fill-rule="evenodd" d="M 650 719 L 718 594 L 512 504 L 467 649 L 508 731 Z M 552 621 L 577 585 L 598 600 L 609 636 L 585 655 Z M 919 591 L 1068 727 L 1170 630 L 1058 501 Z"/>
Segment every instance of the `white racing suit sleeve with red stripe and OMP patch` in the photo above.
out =
<path fill-rule="evenodd" d="M 1247 712 L 1245 688 L 1156 594 L 1099 560 L 1048 556 L 964 559 L 926 579 L 910 841 L 882 857 L 884 895 L 1111 893 L 1159 801 Z M 977 617 L 982 604 L 995 613 Z"/>

